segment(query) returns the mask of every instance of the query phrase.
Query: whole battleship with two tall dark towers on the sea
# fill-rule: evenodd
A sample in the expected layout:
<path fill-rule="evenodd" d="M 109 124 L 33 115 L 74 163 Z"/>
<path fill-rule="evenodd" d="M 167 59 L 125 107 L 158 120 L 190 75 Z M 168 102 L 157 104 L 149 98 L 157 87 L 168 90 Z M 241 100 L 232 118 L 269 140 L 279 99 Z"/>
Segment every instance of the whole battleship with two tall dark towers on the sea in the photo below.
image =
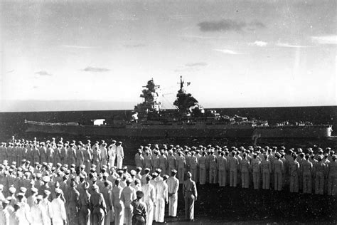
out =
<path fill-rule="evenodd" d="M 267 120 L 247 119 L 238 115 L 220 115 L 216 110 L 204 109 L 191 93 L 187 93 L 181 77 L 180 89 L 173 105 L 165 110 L 160 102 L 160 85 L 153 78 L 143 86 L 143 102 L 134 106 L 132 116 L 100 118 L 88 122 L 37 122 L 25 120 L 26 132 L 78 136 L 110 137 L 245 137 L 245 138 L 301 138 L 331 137 L 332 125 L 311 122 L 279 122 L 269 125 Z"/>

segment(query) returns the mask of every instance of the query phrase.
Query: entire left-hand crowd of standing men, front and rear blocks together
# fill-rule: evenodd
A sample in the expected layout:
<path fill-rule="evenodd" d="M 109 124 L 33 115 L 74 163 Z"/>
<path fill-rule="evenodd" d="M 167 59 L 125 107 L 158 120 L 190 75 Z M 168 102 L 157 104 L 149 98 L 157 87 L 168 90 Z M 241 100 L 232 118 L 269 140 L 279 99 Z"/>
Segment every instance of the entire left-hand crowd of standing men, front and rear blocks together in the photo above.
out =
<path fill-rule="evenodd" d="M 165 204 L 176 217 L 176 169 L 170 177 L 160 168 L 128 171 L 123 158 L 122 142 L 114 140 L 108 146 L 13 137 L 0 147 L 0 224 L 163 223 Z M 183 194 L 191 221 L 197 192 L 192 174 L 186 176 Z"/>

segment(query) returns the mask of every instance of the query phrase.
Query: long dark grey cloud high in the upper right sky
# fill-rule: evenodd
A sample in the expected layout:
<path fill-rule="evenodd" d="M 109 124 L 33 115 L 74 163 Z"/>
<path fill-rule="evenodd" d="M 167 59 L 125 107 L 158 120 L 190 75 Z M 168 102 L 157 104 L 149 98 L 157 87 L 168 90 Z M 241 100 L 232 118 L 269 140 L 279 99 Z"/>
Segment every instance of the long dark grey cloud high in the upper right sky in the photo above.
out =
<path fill-rule="evenodd" d="M 233 21 L 231 19 L 223 19 L 220 21 L 203 21 L 198 23 L 200 31 L 243 31 L 245 28 L 255 30 L 256 28 L 264 28 L 264 23 L 260 21 L 252 21 L 246 23 L 244 21 Z"/>

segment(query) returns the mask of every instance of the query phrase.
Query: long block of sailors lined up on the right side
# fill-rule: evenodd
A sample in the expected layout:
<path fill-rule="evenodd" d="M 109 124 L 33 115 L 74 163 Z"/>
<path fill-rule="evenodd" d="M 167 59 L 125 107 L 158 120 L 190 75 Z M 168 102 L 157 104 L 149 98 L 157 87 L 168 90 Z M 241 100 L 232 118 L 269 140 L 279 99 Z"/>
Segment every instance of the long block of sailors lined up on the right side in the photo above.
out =
<path fill-rule="evenodd" d="M 160 168 L 164 173 L 171 169 L 178 171 L 179 181 L 185 179 L 187 171 L 193 174 L 193 180 L 199 184 L 215 184 L 236 187 L 242 184 L 248 188 L 253 184 L 255 189 L 282 190 L 287 185 L 290 192 L 316 194 L 326 192 L 337 194 L 336 155 L 331 148 L 326 148 L 323 154 L 321 148 L 314 150 L 294 149 L 285 153 L 285 148 L 252 146 L 245 149 L 240 147 L 173 147 L 164 145 L 159 150 L 158 145 L 151 149 L 151 145 L 139 148 L 134 156 L 137 167 Z M 310 174 L 310 176 L 308 175 Z"/>

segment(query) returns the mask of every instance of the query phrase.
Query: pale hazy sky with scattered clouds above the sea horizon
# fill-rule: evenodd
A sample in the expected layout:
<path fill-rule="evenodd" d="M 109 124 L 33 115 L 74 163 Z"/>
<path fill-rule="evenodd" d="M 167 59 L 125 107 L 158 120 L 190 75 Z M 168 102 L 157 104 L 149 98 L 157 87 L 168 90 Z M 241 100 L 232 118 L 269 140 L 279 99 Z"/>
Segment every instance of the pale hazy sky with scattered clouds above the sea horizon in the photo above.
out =
<path fill-rule="evenodd" d="M 0 111 L 337 105 L 336 1 L 0 1 Z"/>

